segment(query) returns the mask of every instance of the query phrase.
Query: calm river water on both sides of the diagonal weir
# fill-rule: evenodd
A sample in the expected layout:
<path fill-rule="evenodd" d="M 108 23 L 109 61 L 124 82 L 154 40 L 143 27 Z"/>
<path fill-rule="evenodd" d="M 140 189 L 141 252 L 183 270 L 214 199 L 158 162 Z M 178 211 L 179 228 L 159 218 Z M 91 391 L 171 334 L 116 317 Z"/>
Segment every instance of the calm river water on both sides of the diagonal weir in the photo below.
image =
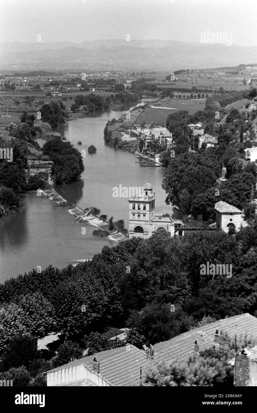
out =
<path fill-rule="evenodd" d="M 161 188 L 162 167 L 141 167 L 135 163 L 138 159 L 134 154 L 114 150 L 104 142 L 103 131 L 107 121 L 114 117 L 118 119 L 125 112 L 127 110 L 94 114 L 55 128 L 78 150 L 86 151 L 83 158 L 85 171 L 81 179 L 56 187 L 56 190 L 81 209 L 98 207 L 101 214 L 108 218 L 113 216 L 113 221 L 123 219 L 125 228 L 128 228 L 128 201 L 113 197 L 115 186 L 142 187 L 149 180 L 156 192 L 156 213 L 171 214 L 172 207 L 165 204 L 166 195 Z M 77 145 L 78 141 L 82 145 Z M 42 146 L 45 140 L 38 142 Z M 90 145 L 97 148 L 96 154 L 88 154 Z M 86 231 L 82 230 L 83 227 Z M 36 191 L 23 194 L 15 214 L 0 218 L 0 282 L 38 266 L 44 269 L 52 264 L 64 268 L 68 263 L 92 258 L 101 252 L 104 245 L 116 244 L 92 235 L 94 229 L 87 223 L 75 221 L 65 208 L 37 196 Z"/>

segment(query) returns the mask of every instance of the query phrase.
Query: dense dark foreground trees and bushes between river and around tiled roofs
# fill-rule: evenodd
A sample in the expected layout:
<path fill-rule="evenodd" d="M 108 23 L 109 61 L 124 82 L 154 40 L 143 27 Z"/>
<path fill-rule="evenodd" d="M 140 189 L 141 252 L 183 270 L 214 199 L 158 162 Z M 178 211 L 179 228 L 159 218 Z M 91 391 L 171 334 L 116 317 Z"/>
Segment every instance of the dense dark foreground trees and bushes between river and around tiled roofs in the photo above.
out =
<path fill-rule="evenodd" d="M 231 263 L 232 278 L 200 275 L 200 264 L 207 261 Z M 49 266 L 40 274 L 34 269 L 0 285 L 2 377 L 13 374 L 13 380 L 19 378 L 24 385 L 45 385 L 43 371 L 82 357 L 83 349 L 90 347 L 94 353 L 124 345 L 109 340 L 113 329 L 124 326 L 130 328 L 127 342 L 141 348 L 225 316 L 256 316 L 256 283 L 256 219 L 234 235 L 203 231 L 170 238 L 159 233 L 149 240 L 132 238 L 106 246 L 92 261 L 76 267 Z M 59 333 L 60 339 L 48 350 L 37 350 L 37 339 L 50 333 Z M 250 337 L 238 337 L 239 342 L 254 345 Z M 177 369 L 185 373 L 182 381 L 173 376 L 177 385 L 228 385 L 234 342 L 225 344 L 221 351 L 206 350 L 200 359 L 177 363 L 173 370 L 156 366 L 154 374 L 146 375 L 146 385 L 155 380 L 161 385 L 164 373 L 175 375 Z M 192 369 L 201 374 L 191 376 Z"/>

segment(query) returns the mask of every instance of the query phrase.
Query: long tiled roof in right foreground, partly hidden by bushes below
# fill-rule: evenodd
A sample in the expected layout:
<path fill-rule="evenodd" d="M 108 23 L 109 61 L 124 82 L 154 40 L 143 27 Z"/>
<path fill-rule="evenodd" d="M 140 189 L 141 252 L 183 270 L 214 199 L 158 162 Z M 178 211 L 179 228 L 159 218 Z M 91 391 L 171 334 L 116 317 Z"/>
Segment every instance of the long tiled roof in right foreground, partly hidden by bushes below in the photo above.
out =
<path fill-rule="evenodd" d="M 175 359 L 185 359 L 194 352 L 195 340 L 199 345 L 199 351 L 210 348 L 214 343 L 216 330 L 222 331 L 223 334 L 227 332 L 230 336 L 247 334 L 257 337 L 257 318 L 248 313 L 224 318 L 155 344 L 154 360 L 171 363 Z"/>

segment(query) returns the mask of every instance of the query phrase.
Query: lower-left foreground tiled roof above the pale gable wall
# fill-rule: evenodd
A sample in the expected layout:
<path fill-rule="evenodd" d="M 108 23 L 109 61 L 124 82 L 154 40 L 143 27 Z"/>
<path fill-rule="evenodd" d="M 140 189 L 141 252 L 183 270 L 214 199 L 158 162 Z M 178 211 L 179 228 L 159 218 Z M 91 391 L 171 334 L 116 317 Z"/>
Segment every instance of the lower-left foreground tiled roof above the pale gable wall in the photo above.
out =
<path fill-rule="evenodd" d="M 95 353 L 92 356 L 80 358 L 64 366 L 50 371 L 59 370 L 64 367 L 72 367 L 83 364 L 92 370 L 92 362 L 97 356 L 100 362 L 100 374 L 104 380 L 108 380 L 114 386 L 134 386 L 140 383 L 140 368 L 145 368 L 151 363 L 143 350 L 137 349 L 130 344 L 128 350 L 125 346 Z"/>

